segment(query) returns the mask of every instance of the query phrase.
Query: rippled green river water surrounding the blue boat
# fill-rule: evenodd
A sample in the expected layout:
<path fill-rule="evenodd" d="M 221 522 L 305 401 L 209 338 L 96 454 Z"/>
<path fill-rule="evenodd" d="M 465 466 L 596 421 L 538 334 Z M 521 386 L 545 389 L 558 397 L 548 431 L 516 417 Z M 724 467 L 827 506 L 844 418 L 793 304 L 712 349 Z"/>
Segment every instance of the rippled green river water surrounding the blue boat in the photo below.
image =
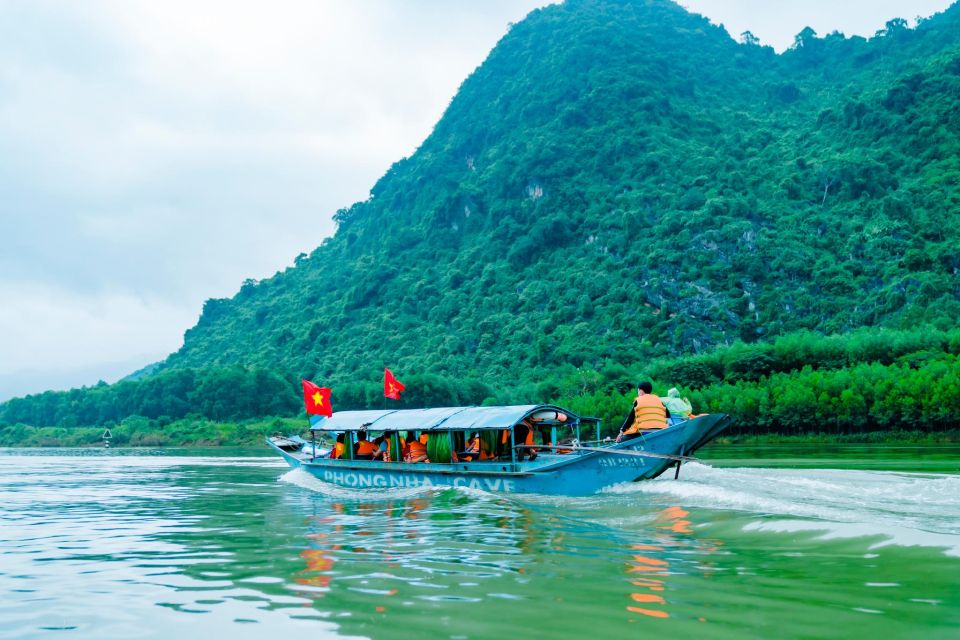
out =
<path fill-rule="evenodd" d="M 0 638 L 960 638 L 960 448 L 708 447 L 592 498 L 0 450 Z"/>

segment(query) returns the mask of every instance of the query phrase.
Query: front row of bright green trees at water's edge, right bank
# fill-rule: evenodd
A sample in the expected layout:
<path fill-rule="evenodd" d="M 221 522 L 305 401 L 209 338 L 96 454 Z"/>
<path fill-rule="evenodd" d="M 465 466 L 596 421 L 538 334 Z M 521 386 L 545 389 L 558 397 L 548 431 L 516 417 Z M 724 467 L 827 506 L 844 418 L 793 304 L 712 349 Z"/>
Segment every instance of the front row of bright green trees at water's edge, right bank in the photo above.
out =
<path fill-rule="evenodd" d="M 672 380 L 654 380 L 661 395 Z M 873 432 L 936 433 L 960 425 L 960 359 L 952 353 L 917 352 L 893 364 L 860 363 L 761 375 L 756 380 L 679 387 L 694 411 L 729 413 L 737 434 L 834 436 Z M 616 432 L 634 392 L 597 390 L 563 396 L 558 404 L 603 419 Z"/>

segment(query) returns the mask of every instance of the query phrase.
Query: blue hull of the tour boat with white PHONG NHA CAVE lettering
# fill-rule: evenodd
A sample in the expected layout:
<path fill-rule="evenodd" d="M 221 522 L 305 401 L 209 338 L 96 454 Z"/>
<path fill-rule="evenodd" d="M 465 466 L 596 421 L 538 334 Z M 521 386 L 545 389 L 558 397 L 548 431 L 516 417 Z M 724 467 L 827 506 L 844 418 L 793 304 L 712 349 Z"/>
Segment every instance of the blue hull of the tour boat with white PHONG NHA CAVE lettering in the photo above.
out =
<path fill-rule="evenodd" d="M 409 487 L 466 487 L 505 493 L 586 496 L 622 482 L 655 478 L 676 461 L 645 455 L 692 455 L 729 423 L 724 414 L 711 414 L 645 434 L 608 447 L 611 451 L 575 451 L 566 455 L 541 453 L 533 462 L 391 463 L 331 460 L 284 451 L 268 439 L 293 468 L 319 480 L 351 489 L 382 490 Z"/>

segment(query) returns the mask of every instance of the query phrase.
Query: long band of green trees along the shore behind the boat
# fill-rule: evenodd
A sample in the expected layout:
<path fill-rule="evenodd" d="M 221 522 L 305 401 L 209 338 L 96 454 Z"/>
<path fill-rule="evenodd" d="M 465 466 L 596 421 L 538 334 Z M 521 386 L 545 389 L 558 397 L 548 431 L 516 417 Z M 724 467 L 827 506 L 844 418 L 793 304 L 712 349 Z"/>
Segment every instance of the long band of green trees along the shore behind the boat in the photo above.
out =
<path fill-rule="evenodd" d="M 561 365 L 546 379 L 497 388 L 479 375 L 404 376 L 401 401 L 366 381 L 332 384 L 335 410 L 554 403 L 603 420 L 615 433 L 641 379 L 666 395 L 677 387 L 695 412 L 729 413 L 727 441 L 958 441 L 960 329 L 860 329 L 825 337 L 797 332 L 735 342 L 705 354 L 627 368 Z M 85 446 L 110 429 L 115 445 L 254 444 L 306 428 L 299 377 L 239 366 L 183 369 L 48 391 L 0 405 L 0 446 Z"/>

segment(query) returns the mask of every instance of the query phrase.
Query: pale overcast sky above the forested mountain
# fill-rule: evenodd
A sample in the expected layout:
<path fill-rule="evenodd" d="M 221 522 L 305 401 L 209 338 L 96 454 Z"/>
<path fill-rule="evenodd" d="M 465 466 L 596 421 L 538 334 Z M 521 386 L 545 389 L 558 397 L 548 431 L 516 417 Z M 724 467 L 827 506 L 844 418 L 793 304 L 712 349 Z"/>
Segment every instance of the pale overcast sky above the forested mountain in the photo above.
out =
<path fill-rule="evenodd" d="M 543 0 L 0 0 L 0 400 L 113 381 L 333 232 Z M 685 0 L 783 50 L 949 0 Z"/>

